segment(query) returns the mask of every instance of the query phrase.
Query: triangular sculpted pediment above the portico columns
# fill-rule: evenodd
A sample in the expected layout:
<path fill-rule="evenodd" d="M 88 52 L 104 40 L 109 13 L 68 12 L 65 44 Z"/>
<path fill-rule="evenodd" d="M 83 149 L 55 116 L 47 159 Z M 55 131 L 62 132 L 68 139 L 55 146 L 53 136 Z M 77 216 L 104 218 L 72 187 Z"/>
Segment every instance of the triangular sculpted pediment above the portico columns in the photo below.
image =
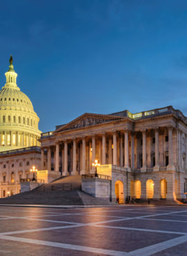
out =
<path fill-rule="evenodd" d="M 83 115 L 80 115 L 78 118 L 75 118 L 71 122 L 57 129 L 55 133 L 59 131 L 70 130 L 70 129 L 79 129 L 83 127 L 89 127 L 91 125 L 99 125 L 104 122 L 110 122 L 112 120 L 120 120 L 123 118 L 124 117 L 116 116 L 116 115 L 100 115 L 100 114 L 84 113 Z"/>

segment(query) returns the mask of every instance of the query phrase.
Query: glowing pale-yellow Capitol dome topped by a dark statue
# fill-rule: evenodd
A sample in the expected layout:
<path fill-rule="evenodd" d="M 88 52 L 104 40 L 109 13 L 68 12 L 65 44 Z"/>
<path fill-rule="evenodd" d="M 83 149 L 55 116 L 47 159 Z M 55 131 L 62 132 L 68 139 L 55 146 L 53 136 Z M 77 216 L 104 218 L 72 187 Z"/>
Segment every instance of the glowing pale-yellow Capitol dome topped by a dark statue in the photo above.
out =
<path fill-rule="evenodd" d="M 0 152 L 39 145 L 39 117 L 30 99 L 17 86 L 12 56 L 5 75 L 6 84 L 0 90 Z"/>

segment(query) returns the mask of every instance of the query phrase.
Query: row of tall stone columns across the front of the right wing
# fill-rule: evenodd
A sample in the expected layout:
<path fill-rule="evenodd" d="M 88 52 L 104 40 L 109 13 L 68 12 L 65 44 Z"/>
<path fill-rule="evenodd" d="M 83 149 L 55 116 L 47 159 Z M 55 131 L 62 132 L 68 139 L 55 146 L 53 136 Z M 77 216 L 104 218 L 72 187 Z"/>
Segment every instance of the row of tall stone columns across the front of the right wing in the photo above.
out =
<path fill-rule="evenodd" d="M 173 127 L 165 128 L 168 136 L 168 168 L 174 168 L 172 158 L 172 133 Z M 63 175 L 75 175 L 77 173 L 94 173 L 92 163 L 98 159 L 102 165 L 113 164 L 121 166 L 127 170 L 141 169 L 148 166 L 148 130 L 130 131 L 110 131 L 100 134 L 88 135 L 82 138 L 66 138 L 57 141 L 55 145 L 42 147 L 41 170 L 44 170 L 44 149 L 47 150 L 47 169 L 51 170 L 52 160 L 54 170 L 62 171 Z M 154 153 L 155 165 L 151 166 L 159 170 L 161 165 L 159 160 L 159 127 L 154 129 Z M 141 143 L 139 143 L 141 141 Z M 53 154 L 52 154 L 53 152 Z M 141 166 L 139 156 L 141 155 Z M 166 165 L 164 165 L 166 167 Z"/>

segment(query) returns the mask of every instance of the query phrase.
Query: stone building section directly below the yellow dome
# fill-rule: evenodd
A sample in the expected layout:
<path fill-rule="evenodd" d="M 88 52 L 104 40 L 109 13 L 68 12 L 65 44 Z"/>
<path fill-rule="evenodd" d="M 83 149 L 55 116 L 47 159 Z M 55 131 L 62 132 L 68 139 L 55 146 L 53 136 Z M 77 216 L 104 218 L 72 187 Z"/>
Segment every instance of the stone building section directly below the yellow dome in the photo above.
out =
<path fill-rule="evenodd" d="M 44 154 L 46 165 L 46 154 Z M 30 169 L 41 166 L 40 147 L 26 147 L 0 153 L 0 198 L 20 193 L 20 182 L 33 179 Z"/>

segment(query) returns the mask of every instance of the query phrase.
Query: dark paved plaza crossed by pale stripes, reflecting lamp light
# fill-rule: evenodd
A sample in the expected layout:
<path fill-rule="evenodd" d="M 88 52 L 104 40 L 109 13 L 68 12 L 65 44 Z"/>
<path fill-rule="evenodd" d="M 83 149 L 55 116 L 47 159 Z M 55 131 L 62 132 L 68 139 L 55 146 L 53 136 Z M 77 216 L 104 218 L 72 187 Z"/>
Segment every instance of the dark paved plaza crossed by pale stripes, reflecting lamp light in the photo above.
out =
<path fill-rule="evenodd" d="M 0 255 L 187 255 L 187 207 L 0 207 Z"/>

